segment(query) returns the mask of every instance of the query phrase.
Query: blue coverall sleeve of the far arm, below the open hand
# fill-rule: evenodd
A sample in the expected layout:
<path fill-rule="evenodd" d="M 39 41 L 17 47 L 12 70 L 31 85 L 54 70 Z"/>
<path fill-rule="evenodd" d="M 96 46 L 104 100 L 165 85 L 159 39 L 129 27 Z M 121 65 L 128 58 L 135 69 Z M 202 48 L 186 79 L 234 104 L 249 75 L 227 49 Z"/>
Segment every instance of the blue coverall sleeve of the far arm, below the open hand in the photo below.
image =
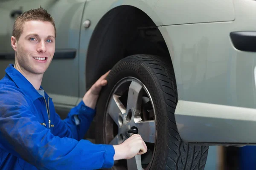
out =
<path fill-rule="evenodd" d="M 87 130 L 90 127 L 91 122 L 95 116 L 95 110 L 84 105 L 81 101 L 79 105 L 72 108 L 67 118 L 61 120 L 57 113 L 54 113 L 54 129 L 53 134 L 55 136 L 69 137 L 76 140 L 81 140 L 85 136 Z M 76 124 L 75 117 L 79 120 L 79 124 Z"/>

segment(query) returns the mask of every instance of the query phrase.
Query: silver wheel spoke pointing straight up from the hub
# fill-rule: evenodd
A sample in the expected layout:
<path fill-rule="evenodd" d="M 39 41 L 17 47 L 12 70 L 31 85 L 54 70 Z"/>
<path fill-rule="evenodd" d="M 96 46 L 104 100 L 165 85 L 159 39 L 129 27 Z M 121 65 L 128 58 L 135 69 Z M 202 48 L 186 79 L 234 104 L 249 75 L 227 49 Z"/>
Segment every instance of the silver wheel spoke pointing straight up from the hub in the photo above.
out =
<path fill-rule="evenodd" d="M 132 81 L 128 91 L 127 112 L 131 109 L 133 113 L 139 113 L 142 102 L 142 85 Z"/>

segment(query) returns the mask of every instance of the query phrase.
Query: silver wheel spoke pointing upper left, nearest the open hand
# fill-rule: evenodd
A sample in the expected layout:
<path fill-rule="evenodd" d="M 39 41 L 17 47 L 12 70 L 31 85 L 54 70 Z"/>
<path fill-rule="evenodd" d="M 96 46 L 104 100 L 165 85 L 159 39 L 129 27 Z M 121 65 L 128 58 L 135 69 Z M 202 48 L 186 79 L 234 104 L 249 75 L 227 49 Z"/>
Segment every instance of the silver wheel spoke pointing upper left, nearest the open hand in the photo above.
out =
<path fill-rule="evenodd" d="M 125 113 L 126 109 L 124 105 L 120 102 L 119 96 L 113 95 L 109 102 L 108 114 L 111 116 L 116 125 L 120 125 L 118 117 L 120 113 Z"/>

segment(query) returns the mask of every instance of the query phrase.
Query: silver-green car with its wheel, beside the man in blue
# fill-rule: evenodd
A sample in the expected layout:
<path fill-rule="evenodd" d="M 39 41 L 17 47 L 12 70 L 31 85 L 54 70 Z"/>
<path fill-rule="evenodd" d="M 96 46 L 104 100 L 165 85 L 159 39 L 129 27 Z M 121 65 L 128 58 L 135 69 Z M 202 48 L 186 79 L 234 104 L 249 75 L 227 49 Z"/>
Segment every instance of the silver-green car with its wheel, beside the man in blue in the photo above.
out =
<path fill-rule="evenodd" d="M 210 145 L 256 144 L 255 0 L 0 0 L 0 77 L 15 18 L 39 6 L 57 28 L 42 83 L 56 112 L 111 69 L 87 135 L 147 144 L 114 170 L 203 170 Z"/>

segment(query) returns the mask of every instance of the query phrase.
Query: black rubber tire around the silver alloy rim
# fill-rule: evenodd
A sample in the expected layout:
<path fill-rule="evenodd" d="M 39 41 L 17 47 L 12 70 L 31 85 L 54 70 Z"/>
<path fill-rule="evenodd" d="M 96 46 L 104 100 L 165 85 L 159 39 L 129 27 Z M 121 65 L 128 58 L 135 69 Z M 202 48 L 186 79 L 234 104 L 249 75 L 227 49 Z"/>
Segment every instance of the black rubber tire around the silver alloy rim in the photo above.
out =
<path fill-rule="evenodd" d="M 120 60 L 112 68 L 107 77 L 108 85 L 102 89 L 96 107 L 96 143 L 109 144 L 116 135 L 115 122 L 107 113 L 108 102 L 112 99 L 110 96 L 113 90 L 119 87 L 117 85 L 120 80 L 128 77 L 143 83 L 151 96 L 151 104 L 154 108 L 156 140 L 154 148 L 151 148 L 153 154 L 151 161 L 144 168 L 147 170 L 204 170 L 209 147 L 193 146 L 180 139 L 174 115 L 178 100 L 174 70 L 172 63 L 162 57 L 133 55 Z M 141 157 L 141 159 L 145 158 Z M 126 164 L 126 160 L 122 160 L 120 164 Z M 117 163 L 112 169 L 127 169 L 125 165 L 122 167 L 120 164 Z"/>

